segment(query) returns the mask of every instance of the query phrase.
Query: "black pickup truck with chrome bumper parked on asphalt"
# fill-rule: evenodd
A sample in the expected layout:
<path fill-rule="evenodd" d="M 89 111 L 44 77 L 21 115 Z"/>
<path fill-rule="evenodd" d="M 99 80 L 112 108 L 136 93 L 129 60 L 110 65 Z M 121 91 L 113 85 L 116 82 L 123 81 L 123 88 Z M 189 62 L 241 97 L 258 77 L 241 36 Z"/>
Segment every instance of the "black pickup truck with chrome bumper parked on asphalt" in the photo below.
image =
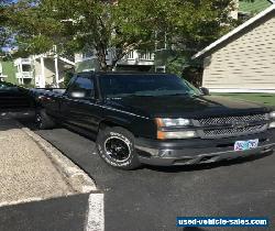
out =
<path fill-rule="evenodd" d="M 66 91 L 36 94 L 40 129 L 96 138 L 111 166 L 193 165 L 273 152 L 275 110 L 210 96 L 168 74 L 79 73 Z"/>

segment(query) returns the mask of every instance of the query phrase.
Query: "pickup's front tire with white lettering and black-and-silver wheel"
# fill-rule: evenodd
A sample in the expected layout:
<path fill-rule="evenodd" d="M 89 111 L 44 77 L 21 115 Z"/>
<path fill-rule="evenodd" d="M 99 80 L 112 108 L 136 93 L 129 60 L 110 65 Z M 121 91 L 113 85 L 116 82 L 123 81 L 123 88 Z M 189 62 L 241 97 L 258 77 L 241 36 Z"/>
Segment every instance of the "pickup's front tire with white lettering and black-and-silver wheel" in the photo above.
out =
<path fill-rule="evenodd" d="M 130 170 L 141 166 L 134 148 L 134 136 L 123 128 L 100 130 L 96 145 L 100 157 L 112 167 Z"/>

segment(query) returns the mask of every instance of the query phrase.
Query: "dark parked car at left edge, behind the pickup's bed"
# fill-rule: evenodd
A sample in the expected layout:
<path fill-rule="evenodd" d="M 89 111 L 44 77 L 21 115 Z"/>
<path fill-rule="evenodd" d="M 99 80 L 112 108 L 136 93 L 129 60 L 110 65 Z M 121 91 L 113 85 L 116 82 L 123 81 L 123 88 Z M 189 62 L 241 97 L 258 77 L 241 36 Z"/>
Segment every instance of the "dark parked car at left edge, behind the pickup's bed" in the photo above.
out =
<path fill-rule="evenodd" d="M 31 108 L 32 106 L 33 100 L 28 89 L 0 81 L 0 109 L 21 110 Z"/>

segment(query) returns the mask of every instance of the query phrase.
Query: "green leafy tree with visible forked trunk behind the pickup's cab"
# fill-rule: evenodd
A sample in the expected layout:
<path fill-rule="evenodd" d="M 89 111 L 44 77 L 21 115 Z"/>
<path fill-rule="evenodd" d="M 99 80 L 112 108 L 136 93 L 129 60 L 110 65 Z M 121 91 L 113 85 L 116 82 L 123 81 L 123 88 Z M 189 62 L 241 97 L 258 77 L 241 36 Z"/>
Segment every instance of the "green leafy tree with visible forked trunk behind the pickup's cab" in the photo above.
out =
<path fill-rule="evenodd" d="M 112 69 L 127 53 L 148 45 L 154 35 L 144 21 L 143 4 L 130 3 L 130 0 L 18 1 L 10 20 L 16 32 L 19 54 L 44 53 L 54 44 L 59 53 L 88 47 L 96 50 L 102 70 Z M 112 54 L 110 66 L 108 54 Z"/>

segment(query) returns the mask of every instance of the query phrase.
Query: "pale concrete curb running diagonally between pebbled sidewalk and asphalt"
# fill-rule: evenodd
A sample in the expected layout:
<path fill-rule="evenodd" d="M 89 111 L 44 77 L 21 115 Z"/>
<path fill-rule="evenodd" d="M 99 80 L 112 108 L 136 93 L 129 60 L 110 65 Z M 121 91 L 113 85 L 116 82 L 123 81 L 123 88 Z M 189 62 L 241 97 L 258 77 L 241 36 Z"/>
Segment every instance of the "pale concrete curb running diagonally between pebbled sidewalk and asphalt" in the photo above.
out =
<path fill-rule="evenodd" d="M 20 123 L 18 122 L 18 124 Z M 22 128 L 21 130 L 35 141 L 35 143 L 45 152 L 56 169 L 72 186 L 73 190 L 79 194 L 88 194 L 98 190 L 95 182 L 52 144 L 28 128 Z"/>

